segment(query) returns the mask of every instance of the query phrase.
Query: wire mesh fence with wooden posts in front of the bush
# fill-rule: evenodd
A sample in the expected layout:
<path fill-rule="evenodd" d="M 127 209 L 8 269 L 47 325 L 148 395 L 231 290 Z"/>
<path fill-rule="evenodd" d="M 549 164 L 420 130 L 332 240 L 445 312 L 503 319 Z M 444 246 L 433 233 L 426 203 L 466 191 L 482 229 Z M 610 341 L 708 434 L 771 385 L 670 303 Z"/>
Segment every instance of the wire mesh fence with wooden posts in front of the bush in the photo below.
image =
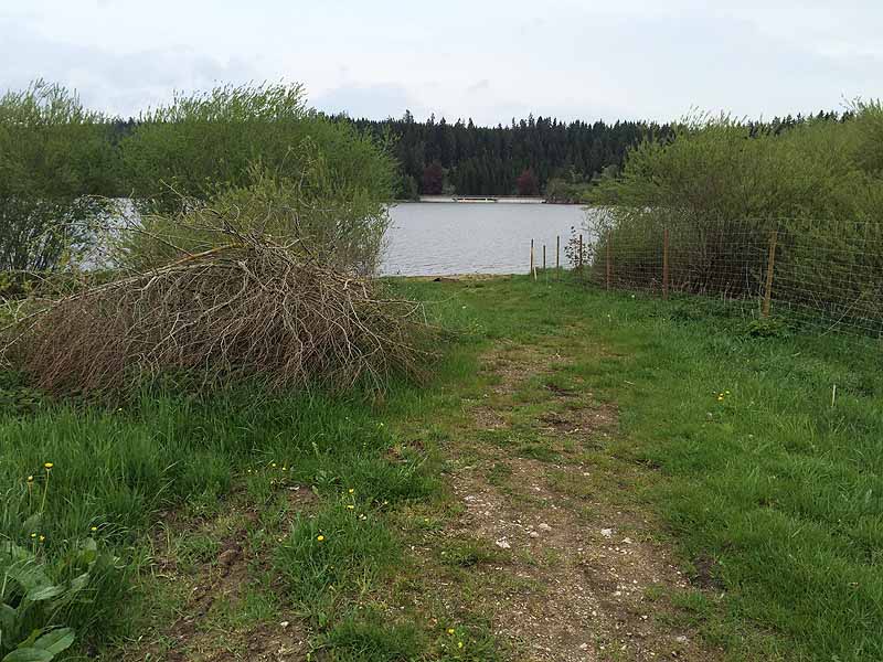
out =
<path fill-rule="evenodd" d="M 883 342 L 883 223 L 641 221 L 575 232 L 571 266 L 608 289 L 711 297 L 759 319 Z"/>

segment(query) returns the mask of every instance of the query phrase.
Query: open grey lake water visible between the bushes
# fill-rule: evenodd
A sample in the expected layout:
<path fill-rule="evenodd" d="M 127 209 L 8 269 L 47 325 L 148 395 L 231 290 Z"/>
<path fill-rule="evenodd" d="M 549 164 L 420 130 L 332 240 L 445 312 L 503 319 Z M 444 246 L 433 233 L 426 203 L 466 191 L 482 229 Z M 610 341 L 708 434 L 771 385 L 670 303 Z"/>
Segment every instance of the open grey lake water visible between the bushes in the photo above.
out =
<path fill-rule="evenodd" d="M 577 205 L 507 203 L 405 203 L 391 212 L 384 275 L 526 274 L 534 239 L 536 265 L 555 266 L 555 236 L 561 264 L 571 228 L 583 226 Z"/>

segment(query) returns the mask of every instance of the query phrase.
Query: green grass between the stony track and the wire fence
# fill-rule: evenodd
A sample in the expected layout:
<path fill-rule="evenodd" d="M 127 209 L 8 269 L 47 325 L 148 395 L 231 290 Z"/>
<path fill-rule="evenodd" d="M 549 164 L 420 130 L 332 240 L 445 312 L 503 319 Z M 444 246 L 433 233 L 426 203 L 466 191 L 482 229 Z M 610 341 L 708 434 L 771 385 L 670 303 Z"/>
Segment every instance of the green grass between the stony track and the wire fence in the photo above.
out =
<path fill-rule="evenodd" d="M 758 338 L 728 307 L 572 284 L 447 289 L 448 305 L 468 306 L 455 314 L 462 328 L 570 345 L 571 376 L 618 404 L 619 453 L 658 477 L 638 498 L 664 517 L 685 567 L 706 568 L 698 585 L 724 594 L 703 611 L 713 642 L 736 656 L 748 641 L 760 658 L 883 659 L 879 342 Z"/>

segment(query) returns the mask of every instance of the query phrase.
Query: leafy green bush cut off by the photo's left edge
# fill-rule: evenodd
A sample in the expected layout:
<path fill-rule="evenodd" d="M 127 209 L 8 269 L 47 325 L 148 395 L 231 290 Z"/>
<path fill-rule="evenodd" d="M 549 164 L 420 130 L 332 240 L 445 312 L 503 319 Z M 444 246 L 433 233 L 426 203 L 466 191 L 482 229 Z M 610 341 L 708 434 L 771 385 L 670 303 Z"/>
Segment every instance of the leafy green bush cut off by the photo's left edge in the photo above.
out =
<path fill-rule="evenodd" d="M 109 125 L 41 81 L 0 97 L 0 270 L 75 260 L 113 192 Z"/>

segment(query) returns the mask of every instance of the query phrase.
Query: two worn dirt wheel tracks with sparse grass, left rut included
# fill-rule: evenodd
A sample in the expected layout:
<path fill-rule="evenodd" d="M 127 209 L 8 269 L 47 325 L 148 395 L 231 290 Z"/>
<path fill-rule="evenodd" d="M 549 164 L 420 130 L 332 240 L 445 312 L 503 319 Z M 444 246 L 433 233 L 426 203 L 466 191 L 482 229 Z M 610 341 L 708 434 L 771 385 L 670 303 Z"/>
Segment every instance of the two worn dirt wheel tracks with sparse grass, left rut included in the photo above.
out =
<path fill-rule="evenodd" d="M 406 505 L 398 513 L 406 563 L 363 598 L 391 620 L 404 610 L 418 615 L 427 631 L 487 622 L 496 640 L 487 650 L 504 660 L 720 659 L 672 605 L 672 592 L 695 587 L 635 499 L 647 470 L 615 457 L 617 408 L 599 403 L 571 360 L 551 349 L 509 344 L 482 364 L 492 386 L 464 402 L 466 419 L 451 423 L 456 434 L 439 444 L 448 462 L 446 505 L 415 503 L 429 510 L 417 516 Z M 269 598 L 284 590 L 268 559 L 291 517 L 308 513 L 316 496 L 297 485 L 280 494 L 272 506 L 234 495 L 205 521 L 167 522 L 168 535 L 155 541 L 153 572 L 174 607 L 123 659 L 308 659 L 315 633 L 284 598 Z M 408 527 L 414 520 L 427 527 Z M 445 650 L 436 645 L 427 659 L 487 659 Z M 320 651 L 312 659 L 328 658 Z"/>

